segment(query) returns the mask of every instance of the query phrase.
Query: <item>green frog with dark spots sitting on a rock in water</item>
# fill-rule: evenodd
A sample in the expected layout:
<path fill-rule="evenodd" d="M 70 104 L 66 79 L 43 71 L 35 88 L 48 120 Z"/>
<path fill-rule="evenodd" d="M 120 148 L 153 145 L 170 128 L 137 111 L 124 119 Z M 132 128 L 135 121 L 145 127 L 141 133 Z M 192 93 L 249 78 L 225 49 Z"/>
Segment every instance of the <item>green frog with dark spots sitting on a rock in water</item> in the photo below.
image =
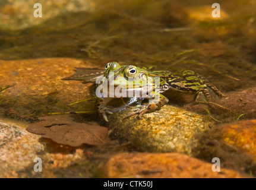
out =
<path fill-rule="evenodd" d="M 108 122 L 108 114 L 120 112 L 128 106 L 134 106 L 134 110 L 126 118 L 138 115 L 141 119 L 144 113 L 160 109 L 169 101 L 162 93 L 170 88 L 194 93 L 195 102 L 198 102 L 201 96 L 204 96 L 206 101 L 212 102 L 208 89 L 219 98 L 224 96 L 206 78 L 194 71 L 186 70 L 182 72 L 182 77 L 179 77 L 170 71 L 150 71 L 134 65 L 121 66 L 118 62 L 109 62 L 105 66 L 105 72 L 90 74 L 90 78 L 82 74 L 72 75 L 64 80 L 84 80 L 85 83 L 96 77 L 99 79 L 96 80 L 98 112 L 106 122 Z M 103 84 L 108 88 L 105 93 Z M 121 99 L 122 104 L 118 107 L 109 106 L 108 103 L 115 99 Z"/>

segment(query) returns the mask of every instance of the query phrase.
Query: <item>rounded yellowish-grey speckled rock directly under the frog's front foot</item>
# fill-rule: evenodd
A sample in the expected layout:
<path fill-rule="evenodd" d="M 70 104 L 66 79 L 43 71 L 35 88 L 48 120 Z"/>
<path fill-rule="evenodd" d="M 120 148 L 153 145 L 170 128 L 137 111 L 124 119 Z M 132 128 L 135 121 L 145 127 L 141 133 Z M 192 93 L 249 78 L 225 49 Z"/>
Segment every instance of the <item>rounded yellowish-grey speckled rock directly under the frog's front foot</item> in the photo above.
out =
<path fill-rule="evenodd" d="M 197 143 L 195 134 L 212 125 L 208 116 L 198 115 L 174 106 L 163 106 L 156 112 L 125 119 L 131 108 L 109 116 L 112 135 L 124 138 L 139 151 L 179 152 L 189 154 Z"/>

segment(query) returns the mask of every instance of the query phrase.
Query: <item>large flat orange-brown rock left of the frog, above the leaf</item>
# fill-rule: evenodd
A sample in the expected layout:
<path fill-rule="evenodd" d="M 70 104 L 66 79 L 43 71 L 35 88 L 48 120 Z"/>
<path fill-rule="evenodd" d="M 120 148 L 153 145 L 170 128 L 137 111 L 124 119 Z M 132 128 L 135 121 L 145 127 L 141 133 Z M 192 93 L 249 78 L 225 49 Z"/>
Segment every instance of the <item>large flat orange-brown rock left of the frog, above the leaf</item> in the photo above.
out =
<path fill-rule="evenodd" d="M 91 97 L 91 84 L 61 80 L 75 67 L 85 66 L 80 59 L 68 58 L 0 61 L 0 87 L 11 85 L 1 91 L 0 115 L 27 119 L 49 112 L 95 110 L 91 101 L 68 106 Z"/>

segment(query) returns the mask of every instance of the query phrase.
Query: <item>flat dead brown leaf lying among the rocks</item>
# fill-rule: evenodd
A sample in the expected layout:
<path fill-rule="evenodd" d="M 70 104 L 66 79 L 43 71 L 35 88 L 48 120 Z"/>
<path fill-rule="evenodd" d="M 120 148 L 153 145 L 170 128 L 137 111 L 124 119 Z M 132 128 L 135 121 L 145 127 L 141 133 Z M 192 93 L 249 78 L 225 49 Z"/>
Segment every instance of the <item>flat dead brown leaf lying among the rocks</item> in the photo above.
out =
<path fill-rule="evenodd" d="M 110 143 L 108 128 L 96 122 L 75 122 L 72 115 L 45 116 L 31 124 L 27 131 L 50 138 L 56 143 L 77 147 L 82 144 L 103 145 Z"/>

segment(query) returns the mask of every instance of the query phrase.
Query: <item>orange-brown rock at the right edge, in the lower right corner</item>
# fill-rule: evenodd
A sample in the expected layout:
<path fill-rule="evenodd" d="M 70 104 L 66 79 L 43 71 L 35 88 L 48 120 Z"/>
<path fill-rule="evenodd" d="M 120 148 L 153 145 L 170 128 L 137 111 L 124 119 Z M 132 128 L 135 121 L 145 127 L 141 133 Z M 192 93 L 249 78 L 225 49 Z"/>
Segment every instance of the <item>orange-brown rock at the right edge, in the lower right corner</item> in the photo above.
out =
<path fill-rule="evenodd" d="M 199 143 L 192 154 L 204 160 L 219 157 L 230 169 L 256 173 L 256 120 L 223 124 L 198 137 Z"/>

